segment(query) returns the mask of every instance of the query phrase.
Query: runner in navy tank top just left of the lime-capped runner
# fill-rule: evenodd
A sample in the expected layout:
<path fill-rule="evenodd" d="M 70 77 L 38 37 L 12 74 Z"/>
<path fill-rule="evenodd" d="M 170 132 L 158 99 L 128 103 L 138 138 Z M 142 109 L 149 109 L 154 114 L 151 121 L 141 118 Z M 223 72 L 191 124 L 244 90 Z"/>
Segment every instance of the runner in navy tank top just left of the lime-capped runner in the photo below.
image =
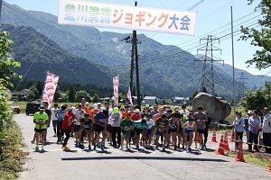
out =
<path fill-rule="evenodd" d="M 94 148 L 96 150 L 96 143 L 99 139 L 99 134 L 102 133 L 102 143 L 101 143 L 101 150 L 105 149 L 105 141 L 107 135 L 107 123 L 108 123 L 108 110 L 105 108 L 101 108 L 100 111 L 94 116 L 94 131 L 95 131 L 95 138 L 94 138 Z"/>

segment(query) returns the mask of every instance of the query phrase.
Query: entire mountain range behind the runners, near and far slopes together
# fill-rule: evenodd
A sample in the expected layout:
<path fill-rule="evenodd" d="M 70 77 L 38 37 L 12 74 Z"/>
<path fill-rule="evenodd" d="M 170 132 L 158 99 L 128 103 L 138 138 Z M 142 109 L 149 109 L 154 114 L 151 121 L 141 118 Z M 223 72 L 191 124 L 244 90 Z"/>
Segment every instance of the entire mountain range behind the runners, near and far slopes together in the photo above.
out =
<path fill-rule="evenodd" d="M 1 21 L 14 26 L 7 29 L 15 41 L 15 57 L 23 62 L 20 74 L 24 74 L 27 67 L 31 66 L 44 41 L 50 37 L 38 58 L 39 63 L 33 63 L 29 71 L 33 78 L 41 80 L 41 72 L 51 70 L 62 76 L 61 80 L 65 82 L 111 87 L 112 76 L 119 75 L 120 91 L 127 91 L 131 44 L 123 39 L 131 34 L 60 25 L 54 15 L 26 11 L 6 3 Z M 159 97 L 190 96 L 195 90 L 200 90 L 202 64 L 194 62 L 192 54 L 175 46 L 165 46 L 144 34 L 139 34 L 137 38 L 142 41 L 138 45 L 142 94 Z M 223 67 L 221 63 L 214 63 L 214 69 L 215 93 L 230 99 L 230 66 Z M 270 76 L 253 76 L 247 71 L 236 70 L 237 76 L 243 72 L 248 77 L 248 89 L 255 85 L 263 86 L 266 80 L 271 80 Z"/>

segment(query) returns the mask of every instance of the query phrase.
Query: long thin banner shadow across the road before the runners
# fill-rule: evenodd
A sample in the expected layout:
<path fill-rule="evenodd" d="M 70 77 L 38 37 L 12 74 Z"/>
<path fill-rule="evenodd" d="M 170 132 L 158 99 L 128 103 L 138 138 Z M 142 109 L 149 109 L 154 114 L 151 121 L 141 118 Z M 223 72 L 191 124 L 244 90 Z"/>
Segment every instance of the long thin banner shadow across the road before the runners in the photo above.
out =
<path fill-rule="evenodd" d="M 206 162 L 229 162 L 223 159 L 214 158 L 193 158 L 193 157 L 63 157 L 61 160 L 121 160 L 121 159 L 148 159 L 148 160 L 191 160 L 191 161 L 206 161 Z"/>

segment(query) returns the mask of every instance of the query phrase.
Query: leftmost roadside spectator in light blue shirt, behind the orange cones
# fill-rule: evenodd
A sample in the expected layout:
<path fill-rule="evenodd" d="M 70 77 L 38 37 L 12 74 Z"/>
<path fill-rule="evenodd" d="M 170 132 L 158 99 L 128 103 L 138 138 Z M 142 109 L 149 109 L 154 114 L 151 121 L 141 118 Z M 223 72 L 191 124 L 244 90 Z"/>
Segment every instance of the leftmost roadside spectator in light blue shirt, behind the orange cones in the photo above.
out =
<path fill-rule="evenodd" d="M 236 143 L 235 146 L 238 148 L 238 141 L 243 141 L 243 133 L 245 131 L 245 120 L 242 118 L 242 112 L 235 112 L 236 119 L 233 121 L 233 127 L 236 126 Z"/>

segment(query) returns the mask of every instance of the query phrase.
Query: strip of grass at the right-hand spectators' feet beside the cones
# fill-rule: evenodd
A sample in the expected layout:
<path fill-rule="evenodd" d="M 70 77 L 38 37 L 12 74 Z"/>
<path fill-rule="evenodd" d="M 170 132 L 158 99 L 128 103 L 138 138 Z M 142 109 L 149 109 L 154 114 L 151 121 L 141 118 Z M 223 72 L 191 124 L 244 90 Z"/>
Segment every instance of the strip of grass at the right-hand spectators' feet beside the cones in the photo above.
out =
<path fill-rule="evenodd" d="M 229 152 L 229 157 L 237 157 L 237 152 Z M 263 167 L 269 167 L 271 163 L 271 155 L 262 153 L 262 152 L 255 152 L 250 153 L 247 151 L 244 151 L 244 159 L 246 162 L 255 164 L 257 166 L 263 166 Z"/>

